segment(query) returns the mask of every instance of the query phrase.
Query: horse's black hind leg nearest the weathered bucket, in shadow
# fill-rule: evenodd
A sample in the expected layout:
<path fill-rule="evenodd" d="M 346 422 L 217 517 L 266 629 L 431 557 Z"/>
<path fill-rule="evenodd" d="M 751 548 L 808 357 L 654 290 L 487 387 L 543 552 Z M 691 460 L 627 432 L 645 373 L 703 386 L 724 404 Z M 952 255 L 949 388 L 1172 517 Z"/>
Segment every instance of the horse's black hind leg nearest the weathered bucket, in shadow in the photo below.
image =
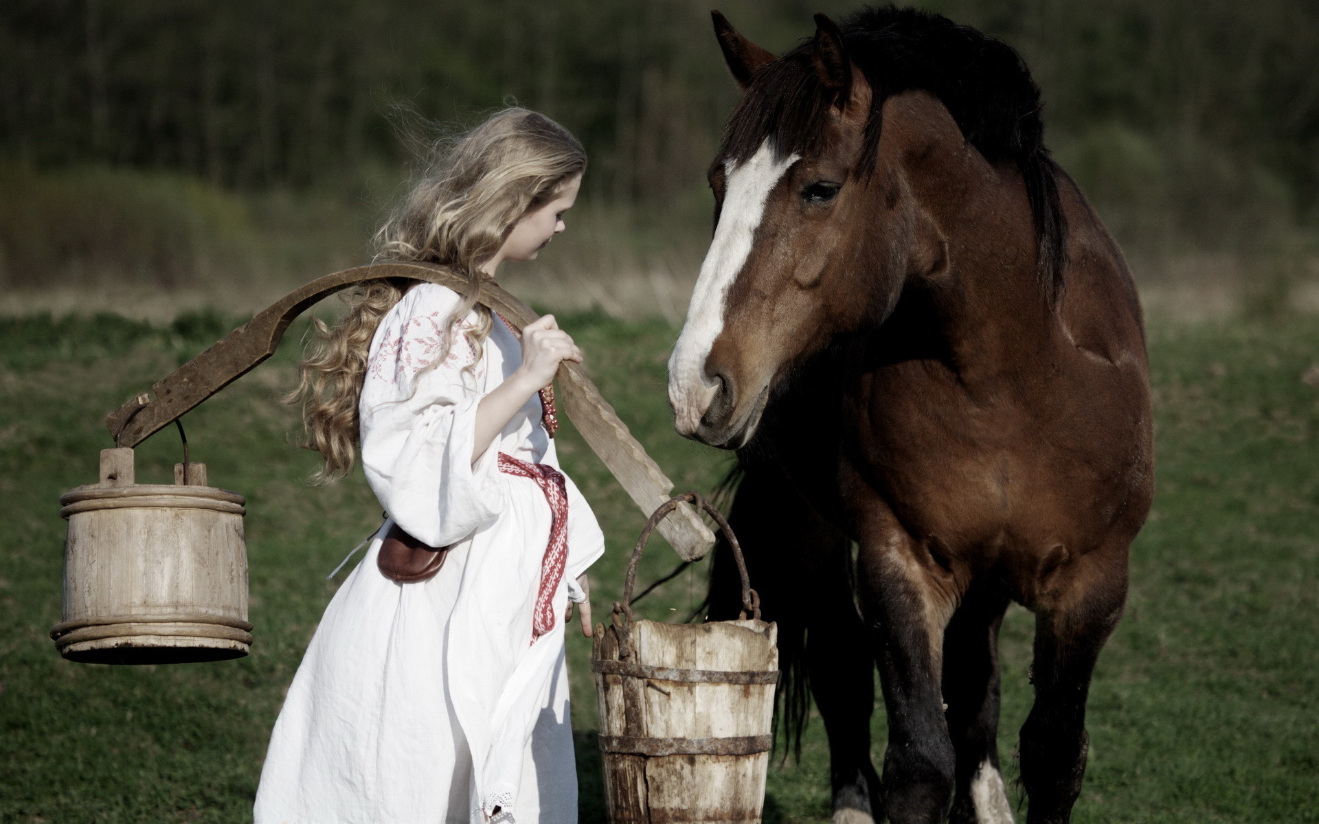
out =
<path fill-rule="evenodd" d="M 747 556 L 762 616 L 778 622 L 783 738 L 791 742 L 806 720 L 809 683 L 828 734 L 834 820 L 869 824 L 880 795 L 871 763 L 874 662 L 856 645 L 864 633 L 848 576 L 849 543 L 780 469 L 762 463 L 747 468 L 728 522 Z M 710 618 L 735 618 L 739 609 L 737 570 L 720 541 Z"/>

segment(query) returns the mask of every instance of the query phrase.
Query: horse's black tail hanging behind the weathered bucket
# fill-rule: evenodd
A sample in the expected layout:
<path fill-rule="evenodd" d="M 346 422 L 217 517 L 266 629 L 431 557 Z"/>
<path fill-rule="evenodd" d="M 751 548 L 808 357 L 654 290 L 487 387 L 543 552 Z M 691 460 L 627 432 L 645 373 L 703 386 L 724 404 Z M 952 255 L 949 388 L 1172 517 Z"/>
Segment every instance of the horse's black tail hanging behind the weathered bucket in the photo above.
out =
<path fill-rule="evenodd" d="M 777 479 L 777 475 L 774 476 Z M 716 505 L 727 513 L 747 559 L 751 585 L 760 596 L 761 616 L 778 624 L 780 679 L 774 701 L 776 749 L 801 757 L 802 732 L 810 717 L 810 683 L 806 668 L 806 614 L 803 592 L 793 588 L 793 568 L 799 568 L 801 547 L 793 541 L 793 512 L 785 512 L 783 484 L 772 483 L 743 456 L 720 481 Z M 780 530 L 787 529 L 782 535 Z M 780 538 L 776 538 L 780 533 Z M 786 538 L 786 539 L 785 539 Z M 741 579 L 728 541 L 719 535 L 710 564 L 710 589 L 703 612 L 707 621 L 731 621 L 741 610 Z"/>

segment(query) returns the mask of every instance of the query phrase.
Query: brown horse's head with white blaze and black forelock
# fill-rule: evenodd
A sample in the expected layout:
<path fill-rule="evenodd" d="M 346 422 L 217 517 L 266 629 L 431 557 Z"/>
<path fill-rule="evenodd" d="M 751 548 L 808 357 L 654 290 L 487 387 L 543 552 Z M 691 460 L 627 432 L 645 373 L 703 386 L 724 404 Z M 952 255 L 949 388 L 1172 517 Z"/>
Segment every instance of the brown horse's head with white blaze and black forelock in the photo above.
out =
<path fill-rule="evenodd" d="M 1004 112 L 973 113 L 980 120 L 968 127 L 938 88 L 956 90 L 962 80 L 922 76 L 884 33 L 849 44 L 851 33 L 844 38 L 816 15 L 814 38 L 776 58 L 718 12 L 714 18 L 743 98 L 708 171 L 715 232 L 669 360 L 669 399 L 679 434 L 739 448 L 794 368 L 840 335 L 880 326 L 914 281 L 947 277 L 948 239 L 931 199 L 956 211 L 966 179 L 1000 177 L 989 162 L 992 140 L 973 137 L 981 120 L 991 138 L 1014 140 L 1035 152 L 1031 158 L 1049 161 L 1038 134 L 1021 133 L 1021 124 L 1029 132 L 1038 123 L 1030 111 L 1038 109 L 1038 88 L 1029 74 L 1017 80 L 1020 99 Z M 930 16 L 904 25 L 942 24 L 917 36 L 929 42 L 959 34 Z M 1025 71 L 1008 46 L 991 49 L 998 50 L 981 57 L 976 71 L 984 65 L 1009 75 Z M 926 75 L 948 71 L 929 63 Z M 996 125 L 1002 123 L 1010 125 Z M 995 129 L 1014 131 L 1004 137 Z M 1029 268 L 1037 252 L 1030 208 L 1038 198 L 1028 195 L 1018 210 L 1024 220 L 1002 232 Z"/>

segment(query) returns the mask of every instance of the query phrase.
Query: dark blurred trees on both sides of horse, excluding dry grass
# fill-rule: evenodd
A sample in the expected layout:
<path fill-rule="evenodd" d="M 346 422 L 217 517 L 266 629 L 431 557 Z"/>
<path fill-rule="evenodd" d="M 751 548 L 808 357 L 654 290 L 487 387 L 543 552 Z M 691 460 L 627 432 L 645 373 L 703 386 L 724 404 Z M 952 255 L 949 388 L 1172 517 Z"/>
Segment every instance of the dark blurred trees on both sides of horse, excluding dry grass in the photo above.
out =
<path fill-rule="evenodd" d="M 1051 145 L 1128 244 L 1246 243 L 1275 224 L 1319 221 L 1319 4 L 925 5 L 1025 54 Z M 393 179 L 404 161 L 392 104 L 470 121 L 516 99 L 583 140 L 588 200 L 704 220 L 704 169 L 736 98 L 708 7 L 9 0 L 0 5 L 0 163 L 360 192 L 365 177 Z M 853 7 L 720 0 L 774 51 L 813 33 L 811 12 Z"/>

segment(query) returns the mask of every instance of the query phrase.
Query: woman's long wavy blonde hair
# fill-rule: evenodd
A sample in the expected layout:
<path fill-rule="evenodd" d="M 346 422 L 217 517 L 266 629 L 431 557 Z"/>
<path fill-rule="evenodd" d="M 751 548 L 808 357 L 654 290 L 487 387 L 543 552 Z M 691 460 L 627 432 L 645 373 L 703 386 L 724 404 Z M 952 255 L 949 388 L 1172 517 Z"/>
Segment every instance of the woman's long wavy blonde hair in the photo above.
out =
<path fill-rule="evenodd" d="M 377 261 L 426 261 L 452 266 L 467 289 L 446 323 L 475 307 L 479 322 L 464 330 L 479 359 L 491 330 L 476 306 L 480 264 L 495 254 L 518 218 L 557 196 L 586 170 L 586 152 L 567 129 L 525 108 L 505 108 L 452 141 L 430 146 L 431 162 L 412 192 L 376 232 Z M 302 403 L 305 438 L 324 465 L 314 483 L 352 469 L 357 444 L 357 402 L 376 327 L 415 281 L 372 281 L 342 293 L 348 311 L 334 327 L 313 318 L 317 339 L 298 365 L 298 386 L 284 401 Z M 442 363 L 445 353 L 434 363 Z"/>

